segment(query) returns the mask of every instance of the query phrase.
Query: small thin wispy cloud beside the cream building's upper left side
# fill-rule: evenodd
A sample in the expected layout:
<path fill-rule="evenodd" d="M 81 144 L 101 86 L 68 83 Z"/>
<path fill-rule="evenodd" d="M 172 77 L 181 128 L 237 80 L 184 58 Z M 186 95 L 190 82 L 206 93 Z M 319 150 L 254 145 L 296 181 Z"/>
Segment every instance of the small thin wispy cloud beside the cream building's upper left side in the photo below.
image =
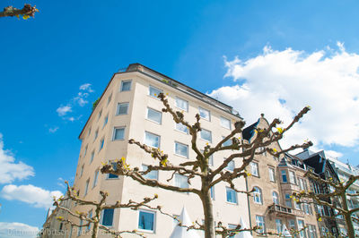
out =
<path fill-rule="evenodd" d="M 61 105 L 57 108 L 57 115 L 62 117 L 64 120 L 68 120 L 70 122 L 74 122 L 75 120 L 78 120 L 75 116 L 66 116 L 73 112 L 73 109 L 75 106 L 85 106 L 89 103 L 89 101 L 86 99 L 90 96 L 94 90 L 92 89 L 91 83 L 84 83 L 80 86 L 80 91 L 77 93 L 74 98 L 71 98 L 66 105 Z"/>

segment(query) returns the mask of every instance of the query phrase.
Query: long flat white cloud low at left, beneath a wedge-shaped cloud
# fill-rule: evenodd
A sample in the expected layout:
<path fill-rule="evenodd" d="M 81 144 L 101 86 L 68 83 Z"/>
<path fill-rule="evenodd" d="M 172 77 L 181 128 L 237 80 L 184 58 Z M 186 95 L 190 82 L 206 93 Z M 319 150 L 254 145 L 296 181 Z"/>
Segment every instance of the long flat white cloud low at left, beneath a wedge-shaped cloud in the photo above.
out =
<path fill-rule="evenodd" d="M 61 191 L 47 191 L 34 185 L 5 185 L 0 196 L 5 200 L 20 200 L 33 205 L 35 208 L 50 208 L 53 197 L 59 198 Z"/>

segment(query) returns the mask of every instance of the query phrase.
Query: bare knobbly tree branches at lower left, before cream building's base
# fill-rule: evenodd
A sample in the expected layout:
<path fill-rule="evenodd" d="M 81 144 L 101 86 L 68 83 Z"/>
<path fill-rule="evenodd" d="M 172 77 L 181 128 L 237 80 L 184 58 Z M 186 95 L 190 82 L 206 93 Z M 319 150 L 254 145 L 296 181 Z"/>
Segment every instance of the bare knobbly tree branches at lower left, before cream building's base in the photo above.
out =
<path fill-rule="evenodd" d="M 106 203 L 107 197 L 109 196 L 109 193 L 106 191 L 100 191 L 100 195 L 101 195 L 100 201 L 83 200 L 77 196 L 73 187 L 70 187 L 67 182 L 66 182 L 66 184 L 67 184 L 66 197 L 62 197 L 58 200 L 55 200 L 54 206 L 56 206 L 57 210 L 65 211 L 66 214 L 72 218 L 65 218 L 65 217 L 58 216 L 57 220 L 64 222 L 66 224 L 70 224 L 71 226 L 75 226 L 75 227 L 90 227 L 90 225 L 92 225 L 92 238 L 98 237 L 100 229 L 103 230 L 105 233 L 112 234 L 114 237 L 117 237 L 117 238 L 122 237 L 121 236 L 122 234 L 136 234 L 140 237 L 144 237 L 143 234 L 138 233 L 138 231 L 136 231 L 136 230 L 116 231 L 116 230 L 109 229 L 109 227 L 107 227 L 106 225 L 101 225 L 101 223 L 100 223 L 101 211 L 104 209 L 131 208 L 131 209 L 136 210 L 138 208 L 150 208 L 153 210 L 155 210 L 155 209 L 161 210 L 160 207 L 153 208 L 150 205 L 148 205 L 149 202 L 156 200 L 158 198 L 157 194 L 154 194 L 153 198 L 144 198 L 144 200 L 140 201 L 140 202 L 129 200 L 127 203 L 121 203 L 120 201 L 117 201 L 115 204 L 109 205 Z M 66 201 L 66 200 L 73 201 L 76 204 L 76 206 L 93 207 L 94 208 L 93 216 L 86 212 L 73 211 L 69 208 L 62 206 L 62 202 Z M 74 222 L 74 219 L 80 219 L 80 220 L 84 221 L 84 224 L 83 223 L 79 224 L 77 222 Z"/>

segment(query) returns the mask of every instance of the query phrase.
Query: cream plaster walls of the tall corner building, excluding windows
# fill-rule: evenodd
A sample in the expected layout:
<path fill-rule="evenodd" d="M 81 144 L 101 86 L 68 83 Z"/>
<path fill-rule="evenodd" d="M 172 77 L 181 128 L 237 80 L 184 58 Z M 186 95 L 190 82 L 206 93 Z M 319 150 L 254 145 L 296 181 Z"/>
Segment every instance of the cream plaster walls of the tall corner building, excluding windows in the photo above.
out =
<path fill-rule="evenodd" d="M 161 111 L 163 107 L 159 99 L 149 95 L 150 85 L 157 89 L 162 89 L 164 93 L 168 93 L 170 105 L 177 110 L 182 111 L 182 109 L 175 106 L 176 97 L 187 100 L 188 112 L 184 112 L 184 115 L 189 123 L 195 123 L 195 115 L 198 113 L 199 106 L 209 110 L 210 121 L 202 119 L 201 125 L 204 129 L 212 132 L 212 143 L 209 143 L 213 145 L 231 132 L 221 126 L 221 116 L 231 120 L 232 128 L 233 123 L 238 120 L 236 115 L 225 111 L 229 107 L 226 108 L 226 106 L 216 102 L 215 99 L 210 101 L 206 96 L 199 94 L 193 89 L 188 93 L 183 90 L 181 85 L 172 87 L 168 84 L 168 78 L 165 76 L 148 69 L 142 72 L 141 69 L 143 70 L 144 68 L 137 68 L 136 72 L 116 73 L 101 96 L 99 104 L 93 110 L 80 136 L 82 147 L 74 188 L 79 191 L 79 196 L 86 200 L 99 200 L 99 191 L 109 191 L 108 204 L 115 203 L 117 200 L 122 202 L 127 202 L 128 200 L 141 201 L 144 197 L 152 197 L 156 193 L 159 195 L 159 199 L 152 203 L 153 207 L 162 205 L 163 210 L 172 215 L 180 215 L 181 209 L 185 207 L 192 221 L 197 220 L 202 222 L 204 218 L 203 208 L 197 195 L 146 187 L 132 181 L 130 178 L 119 177 L 108 179 L 107 174 L 101 173 L 98 176 L 97 183 L 95 185 L 93 183 L 95 173 L 101 168 L 101 163 L 108 163 L 108 161 L 121 157 L 126 157 L 128 164 L 132 167 L 138 166 L 140 169 L 142 165 L 154 165 L 156 161 L 153 161 L 150 155 L 144 153 L 136 145 L 129 145 L 127 143 L 129 139 L 144 142 L 144 132 L 151 132 L 161 136 L 160 148 L 164 153 L 169 155 L 169 161 L 172 164 L 180 164 L 189 158 L 195 157 L 194 152 L 190 149 L 190 136 L 175 130 L 175 123 L 171 119 L 171 115 L 162 113 L 161 124 L 153 123 L 153 121 L 146 119 L 147 107 L 158 111 Z M 152 73 L 152 75 L 147 73 Z M 131 89 L 120 91 L 122 81 L 131 81 Z M 179 89 L 179 86 L 182 89 Z M 198 98 L 195 94 L 190 95 L 190 93 L 197 93 L 202 99 Z M 204 101 L 205 99 L 208 101 Z M 116 115 L 118 103 L 128 103 L 127 115 Z M 108 116 L 108 123 L 104 123 L 106 116 Z M 115 127 L 125 128 L 124 140 L 113 140 Z M 95 134 L 97 134 L 97 137 Z M 104 140 L 102 149 L 101 140 Z M 175 141 L 188 145 L 188 158 L 175 154 Z M 198 147 L 204 148 L 207 142 L 199 138 L 197 141 Z M 229 154 L 231 152 L 216 154 L 214 156 L 214 167 L 219 166 L 224 157 L 228 157 Z M 238 159 L 235 161 L 235 164 L 239 166 L 241 161 Z M 159 173 L 159 181 L 162 183 L 167 183 L 166 180 L 170 177 L 171 174 L 162 171 Z M 87 183 L 89 185 L 85 194 Z M 169 183 L 173 184 L 174 180 Z M 238 179 L 235 184 L 237 188 L 243 191 L 246 190 L 244 179 Z M 198 188 L 199 181 L 192 180 L 190 186 Z M 91 210 L 90 207 L 83 206 L 78 206 L 74 209 L 84 212 Z M 138 230 L 138 213 L 139 211 L 131 209 L 116 209 L 111 228 L 116 230 Z M 250 224 L 247 196 L 239 193 L 237 194 L 237 203 L 229 203 L 226 201 L 226 184 L 216 184 L 214 216 L 215 221 L 221 221 L 223 225 L 237 225 L 240 223 L 241 217 L 247 224 Z M 171 217 L 165 217 L 155 211 L 154 231 L 142 232 L 147 237 L 169 237 L 173 227 L 174 222 Z M 82 234 L 83 236 L 81 237 L 90 237 L 90 234 L 85 231 Z M 130 234 L 127 236 L 131 237 Z M 72 237 L 77 237 L 77 234 L 73 233 Z"/>

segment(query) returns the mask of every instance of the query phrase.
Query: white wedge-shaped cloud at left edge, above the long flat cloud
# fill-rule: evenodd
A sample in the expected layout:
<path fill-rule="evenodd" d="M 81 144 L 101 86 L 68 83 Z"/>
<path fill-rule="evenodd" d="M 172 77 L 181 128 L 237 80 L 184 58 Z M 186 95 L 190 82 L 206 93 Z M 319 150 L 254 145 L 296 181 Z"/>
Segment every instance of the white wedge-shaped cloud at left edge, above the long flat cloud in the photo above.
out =
<path fill-rule="evenodd" d="M 34 174 L 31 166 L 21 161 L 15 163 L 13 154 L 4 149 L 3 134 L 0 133 L 0 183 L 12 183 L 16 179 L 26 179 Z"/>

